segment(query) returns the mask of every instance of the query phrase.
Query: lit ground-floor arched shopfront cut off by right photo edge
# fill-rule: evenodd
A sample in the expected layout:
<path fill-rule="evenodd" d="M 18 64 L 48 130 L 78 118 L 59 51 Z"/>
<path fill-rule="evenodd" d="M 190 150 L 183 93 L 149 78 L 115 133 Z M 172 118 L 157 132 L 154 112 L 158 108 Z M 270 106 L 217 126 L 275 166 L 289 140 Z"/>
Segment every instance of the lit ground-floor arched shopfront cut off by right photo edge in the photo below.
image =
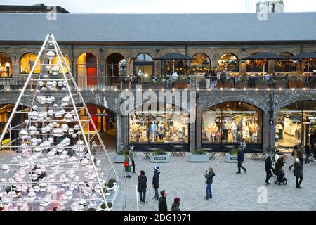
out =
<path fill-rule="evenodd" d="M 316 101 L 300 101 L 279 110 L 275 129 L 277 147 L 316 143 Z"/>

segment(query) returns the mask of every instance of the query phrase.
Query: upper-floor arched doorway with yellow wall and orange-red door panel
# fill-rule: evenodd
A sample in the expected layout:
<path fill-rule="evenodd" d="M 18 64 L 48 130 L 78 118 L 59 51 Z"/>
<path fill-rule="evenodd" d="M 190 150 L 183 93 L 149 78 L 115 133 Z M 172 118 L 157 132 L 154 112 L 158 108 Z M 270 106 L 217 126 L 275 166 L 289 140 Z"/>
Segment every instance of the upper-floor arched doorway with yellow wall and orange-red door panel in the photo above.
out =
<path fill-rule="evenodd" d="M 77 59 L 77 82 L 79 86 L 96 85 L 97 58 L 91 53 L 82 53 Z"/>

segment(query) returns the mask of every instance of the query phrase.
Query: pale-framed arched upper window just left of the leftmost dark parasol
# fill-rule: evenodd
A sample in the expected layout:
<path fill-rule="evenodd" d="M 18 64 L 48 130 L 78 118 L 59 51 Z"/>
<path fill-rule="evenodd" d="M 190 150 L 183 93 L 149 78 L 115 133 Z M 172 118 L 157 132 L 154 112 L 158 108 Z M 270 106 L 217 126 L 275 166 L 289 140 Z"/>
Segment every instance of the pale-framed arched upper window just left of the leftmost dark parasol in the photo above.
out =
<path fill-rule="evenodd" d="M 134 75 L 140 77 L 143 82 L 149 82 L 150 77 L 154 75 L 154 60 L 147 53 L 140 53 L 135 57 Z"/>

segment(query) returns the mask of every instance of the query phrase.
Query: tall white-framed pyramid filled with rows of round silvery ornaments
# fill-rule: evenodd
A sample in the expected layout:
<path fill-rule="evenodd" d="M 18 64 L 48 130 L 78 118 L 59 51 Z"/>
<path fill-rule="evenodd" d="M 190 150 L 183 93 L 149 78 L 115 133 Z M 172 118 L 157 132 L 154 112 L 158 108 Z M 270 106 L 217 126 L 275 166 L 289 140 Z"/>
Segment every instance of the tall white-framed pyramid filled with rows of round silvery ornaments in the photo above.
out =
<path fill-rule="evenodd" d="M 41 72 L 34 74 L 37 66 Z M 17 110 L 25 102 L 32 106 Z M 80 117 L 81 110 L 88 116 Z M 18 114 L 26 120 L 13 127 Z M 7 154 L 0 161 L 1 210 L 112 209 L 117 173 L 53 34 L 39 51 L 0 143 L 8 133 L 10 142 L 1 146 Z"/>

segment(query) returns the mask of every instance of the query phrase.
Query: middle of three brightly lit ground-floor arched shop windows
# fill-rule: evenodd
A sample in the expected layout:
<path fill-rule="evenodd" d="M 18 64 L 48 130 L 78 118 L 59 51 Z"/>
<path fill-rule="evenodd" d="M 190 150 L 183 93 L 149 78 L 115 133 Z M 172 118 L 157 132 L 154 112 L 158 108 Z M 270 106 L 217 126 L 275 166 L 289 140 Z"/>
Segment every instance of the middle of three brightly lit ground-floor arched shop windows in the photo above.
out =
<path fill-rule="evenodd" d="M 262 111 L 241 102 L 215 105 L 202 113 L 202 143 L 261 143 Z"/>

